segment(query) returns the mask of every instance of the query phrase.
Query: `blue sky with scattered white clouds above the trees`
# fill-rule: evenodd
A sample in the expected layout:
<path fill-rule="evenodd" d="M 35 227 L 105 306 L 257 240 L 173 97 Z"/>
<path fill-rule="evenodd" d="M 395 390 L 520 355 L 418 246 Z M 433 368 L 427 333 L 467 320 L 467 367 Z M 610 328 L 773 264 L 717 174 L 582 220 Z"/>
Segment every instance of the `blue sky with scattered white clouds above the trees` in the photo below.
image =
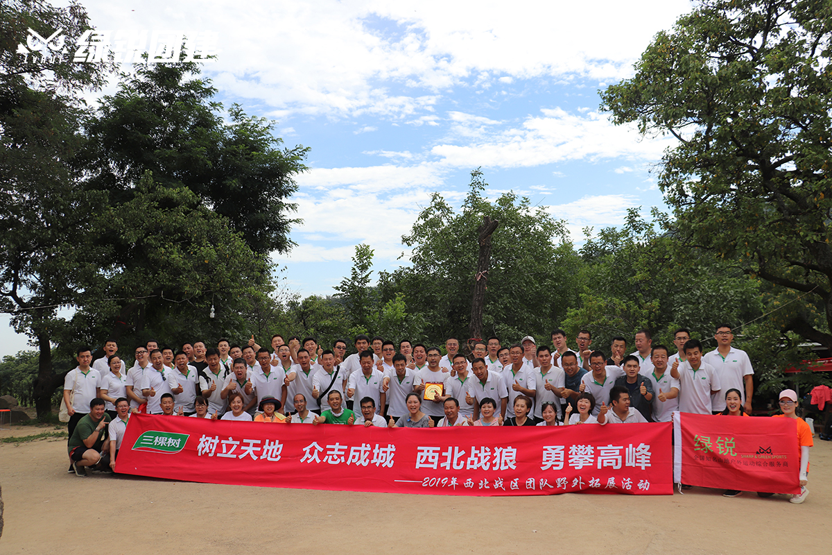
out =
<path fill-rule="evenodd" d="M 528 196 L 576 241 L 627 208 L 664 206 L 649 170 L 673 143 L 612 126 L 598 91 L 631 76 L 686 0 L 83 5 L 99 30 L 216 32 L 204 74 L 218 100 L 310 146 L 298 246 L 274 255 L 290 292 L 333 294 L 359 243 L 374 270 L 406 264 L 401 235 L 418 211 L 434 191 L 458 205 L 478 166 L 488 196 Z M 7 322 L 0 355 L 27 348 Z"/>

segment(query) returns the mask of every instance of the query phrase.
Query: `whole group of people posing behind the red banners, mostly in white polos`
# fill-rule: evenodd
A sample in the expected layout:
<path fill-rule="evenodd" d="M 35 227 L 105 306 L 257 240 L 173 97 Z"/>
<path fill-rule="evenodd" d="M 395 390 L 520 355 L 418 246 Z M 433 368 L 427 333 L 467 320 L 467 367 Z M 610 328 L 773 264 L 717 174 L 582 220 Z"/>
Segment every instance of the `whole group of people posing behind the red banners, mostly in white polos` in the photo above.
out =
<path fill-rule="evenodd" d="M 732 346 L 730 325 L 717 326 L 714 338 L 716 349 L 705 353 L 689 330 L 676 330 L 671 354 L 639 330 L 634 352 L 626 354 L 626 338 L 615 337 L 609 356 L 591 348 L 587 330 L 570 349 L 560 329 L 552 332 L 551 347 L 531 336 L 510 345 L 490 337 L 471 341 L 467 356 L 455 338 L 443 354 L 361 334 L 349 356 L 343 339 L 324 349 L 312 337 L 285 342 L 275 334 L 271 349 L 252 337 L 244 346 L 220 339 L 215 347 L 196 341 L 176 351 L 151 340 L 136 347 L 129 370 L 116 342 L 107 341 L 105 356 L 94 362 L 91 349 L 78 349 L 78 366 L 64 382 L 69 472 L 116 468 L 126 423 L 136 412 L 404 428 L 669 422 L 673 411 L 749 416 L 750 359 Z M 801 503 L 812 436 L 795 415 L 796 402 L 794 391 L 780 394 L 782 415 L 798 421 L 802 489 L 791 501 Z"/>

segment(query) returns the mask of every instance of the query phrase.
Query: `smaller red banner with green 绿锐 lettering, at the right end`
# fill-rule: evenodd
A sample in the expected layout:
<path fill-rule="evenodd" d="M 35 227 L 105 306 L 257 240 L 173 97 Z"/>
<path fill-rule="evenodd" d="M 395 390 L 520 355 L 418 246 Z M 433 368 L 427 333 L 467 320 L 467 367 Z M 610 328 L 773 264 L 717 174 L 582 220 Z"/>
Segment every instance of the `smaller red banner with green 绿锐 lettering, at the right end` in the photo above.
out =
<path fill-rule="evenodd" d="M 681 442 L 676 444 L 676 481 L 704 488 L 800 493 L 794 420 L 677 415 Z"/>

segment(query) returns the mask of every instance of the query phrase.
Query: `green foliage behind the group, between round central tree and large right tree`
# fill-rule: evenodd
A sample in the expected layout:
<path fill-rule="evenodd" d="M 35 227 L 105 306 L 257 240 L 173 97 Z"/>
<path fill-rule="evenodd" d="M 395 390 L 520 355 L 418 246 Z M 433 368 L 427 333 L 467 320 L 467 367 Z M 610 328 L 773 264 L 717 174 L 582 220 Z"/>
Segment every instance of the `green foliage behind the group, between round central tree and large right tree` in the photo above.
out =
<path fill-rule="evenodd" d="M 654 344 L 671 346 L 673 332 L 685 327 L 707 345 L 715 325 L 739 325 L 760 315 L 754 280 L 660 235 L 656 228 L 666 225 L 666 216 L 654 210 L 653 217 L 645 221 L 631 209 L 621 228 L 587 238 L 580 251 L 581 303 L 564 320 L 570 337 L 586 328 L 593 347 L 608 351 L 613 336 L 631 344 L 636 331 L 646 328 Z"/>

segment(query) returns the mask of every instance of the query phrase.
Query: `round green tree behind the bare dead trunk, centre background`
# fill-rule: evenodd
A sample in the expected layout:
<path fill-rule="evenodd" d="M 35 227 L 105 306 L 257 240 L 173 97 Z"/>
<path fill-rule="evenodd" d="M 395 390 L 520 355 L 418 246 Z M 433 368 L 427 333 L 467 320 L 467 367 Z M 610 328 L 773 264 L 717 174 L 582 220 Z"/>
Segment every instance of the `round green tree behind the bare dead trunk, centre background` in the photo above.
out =
<path fill-rule="evenodd" d="M 483 334 L 516 341 L 526 334 L 547 337 L 577 300 L 574 274 L 581 261 L 562 221 L 527 198 L 505 193 L 483 197 L 488 184 L 472 172 L 468 196 L 457 212 L 434 194 L 413 230 L 402 237 L 412 247 L 410 265 L 379 276 L 382 302 L 399 293 L 409 314 L 423 322 L 423 334 L 441 343 L 451 335 L 467 339 L 473 287 L 478 276 L 478 227 L 483 216 L 500 222 L 492 235 L 491 266 L 483 310 Z"/>

